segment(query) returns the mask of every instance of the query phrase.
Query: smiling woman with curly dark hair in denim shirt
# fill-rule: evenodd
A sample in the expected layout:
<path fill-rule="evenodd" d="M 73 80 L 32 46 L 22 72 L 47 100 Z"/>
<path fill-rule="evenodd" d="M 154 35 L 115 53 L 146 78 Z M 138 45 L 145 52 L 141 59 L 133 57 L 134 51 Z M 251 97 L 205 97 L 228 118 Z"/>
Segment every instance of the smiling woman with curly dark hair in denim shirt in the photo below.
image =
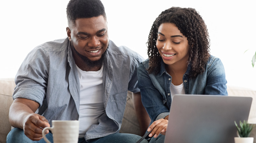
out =
<path fill-rule="evenodd" d="M 193 8 L 163 11 L 147 44 L 149 58 L 140 63 L 139 88 L 151 118 L 150 142 L 163 142 L 174 94 L 227 95 L 227 81 L 221 60 L 209 54 L 206 25 Z"/>

